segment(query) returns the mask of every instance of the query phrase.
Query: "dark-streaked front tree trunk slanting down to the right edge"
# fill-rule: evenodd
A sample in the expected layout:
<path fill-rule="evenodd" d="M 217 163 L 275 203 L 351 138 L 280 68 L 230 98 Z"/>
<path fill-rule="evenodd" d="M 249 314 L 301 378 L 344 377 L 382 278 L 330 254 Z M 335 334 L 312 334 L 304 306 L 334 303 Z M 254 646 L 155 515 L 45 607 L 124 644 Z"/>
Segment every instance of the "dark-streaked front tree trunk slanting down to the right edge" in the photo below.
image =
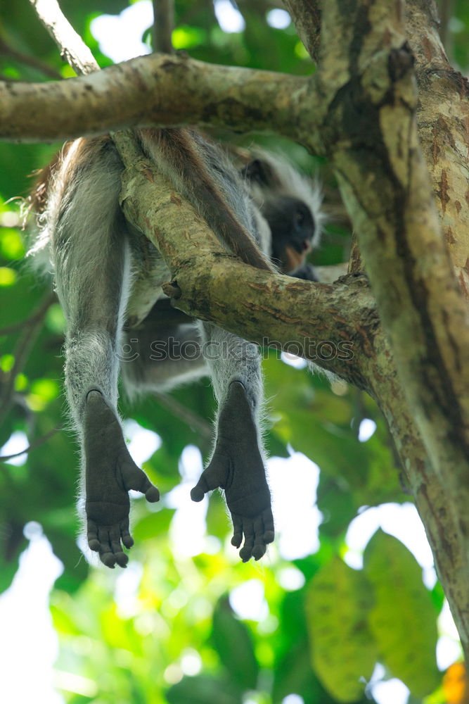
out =
<path fill-rule="evenodd" d="M 468 310 L 439 230 L 418 143 L 416 85 L 400 26 L 401 3 L 359 0 L 348 15 L 342 5 L 329 0 L 323 6 L 318 80 L 328 108 L 322 134 L 352 215 L 401 389 L 428 453 L 427 463 L 407 467 L 416 499 L 429 478 L 431 484 L 438 478 L 445 496 L 437 505 L 451 513 L 450 540 L 457 555 L 452 567 L 439 554 L 444 534 L 433 545 L 467 654 Z M 341 42 L 333 42 L 337 34 Z M 383 375 L 385 369 L 381 363 L 368 377 L 373 395 L 382 398 L 394 384 Z M 396 425 L 394 432 L 399 435 L 404 428 Z M 427 527 L 430 532 L 435 523 Z"/>

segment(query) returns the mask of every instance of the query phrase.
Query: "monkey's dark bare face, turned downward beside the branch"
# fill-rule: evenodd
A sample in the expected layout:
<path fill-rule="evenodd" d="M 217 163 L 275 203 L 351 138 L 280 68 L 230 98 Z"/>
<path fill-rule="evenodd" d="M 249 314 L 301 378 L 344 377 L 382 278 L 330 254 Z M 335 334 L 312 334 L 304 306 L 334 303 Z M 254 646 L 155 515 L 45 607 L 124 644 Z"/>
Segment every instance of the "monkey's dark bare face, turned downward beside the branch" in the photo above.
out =
<path fill-rule="evenodd" d="M 316 225 L 303 201 L 277 196 L 262 206 L 272 233 L 272 260 L 285 274 L 299 268 L 311 251 Z"/>

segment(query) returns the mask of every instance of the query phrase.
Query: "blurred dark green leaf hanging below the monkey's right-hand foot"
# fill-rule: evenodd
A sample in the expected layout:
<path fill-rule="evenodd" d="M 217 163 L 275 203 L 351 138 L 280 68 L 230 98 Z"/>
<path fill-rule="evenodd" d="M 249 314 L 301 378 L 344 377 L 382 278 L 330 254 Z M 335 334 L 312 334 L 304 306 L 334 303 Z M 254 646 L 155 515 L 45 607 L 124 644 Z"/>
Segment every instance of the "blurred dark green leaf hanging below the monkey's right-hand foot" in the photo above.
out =
<path fill-rule="evenodd" d="M 212 642 L 231 679 L 242 689 L 255 689 L 259 665 L 248 627 L 238 620 L 222 597 L 213 612 Z"/>

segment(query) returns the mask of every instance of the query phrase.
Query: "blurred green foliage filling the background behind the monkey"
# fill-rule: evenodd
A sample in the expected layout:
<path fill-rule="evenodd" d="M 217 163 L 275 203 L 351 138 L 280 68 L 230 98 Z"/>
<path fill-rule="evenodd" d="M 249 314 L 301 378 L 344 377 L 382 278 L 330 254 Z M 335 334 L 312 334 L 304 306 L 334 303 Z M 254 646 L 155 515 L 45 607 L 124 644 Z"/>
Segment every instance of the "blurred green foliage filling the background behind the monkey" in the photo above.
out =
<path fill-rule="evenodd" d="M 4 6 L 4 42 L 68 77 L 70 70 L 29 4 L 4 0 Z M 65 14 L 101 65 L 110 61 L 98 50 L 89 23 L 124 6 L 108 0 L 63 2 Z M 207 4 L 179 1 L 178 48 L 212 63 L 311 73 L 291 25 L 286 30 L 269 27 L 262 3 L 243 3 L 241 9 L 246 30 L 224 34 Z M 453 51 L 463 68 L 469 65 L 469 8 L 461 0 L 455 11 Z M 40 63 L 27 65 L 6 50 L 0 62 L 4 77 L 44 80 Z M 238 137 L 237 142 L 249 144 L 251 139 Z M 269 145 L 273 140 L 262 137 L 259 142 Z M 305 170 L 316 168 L 300 147 L 281 144 Z M 207 534 L 218 541 L 207 540 L 205 552 L 194 556 L 174 552 L 167 538 L 174 511 L 168 505 L 134 500 L 136 547 L 128 573 L 136 587 L 125 604 L 116 594 L 122 580 L 129 579 L 127 573 L 96 570 L 79 560 L 77 448 L 72 433 L 63 429 L 68 423 L 60 381 L 63 318 L 57 303 L 43 305 L 50 283 L 21 261 L 25 244 L 18 203 L 7 203 L 27 194 L 28 175 L 45 165 L 58 146 L 0 145 L 0 446 L 15 432 L 25 433 L 30 443 L 39 439 L 25 465 L 0 464 L 0 590 L 10 584 L 26 546 L 24 525 L 39 522 L 65 567 L 51 597 L 61 642 L 57 670 L 82 676 L 81 685 L 64 685 L 65 700 L 237 704 L 250 692 L 261 704 L 279 703 L 290 693 L 307 704 L 369 701 L 364 679 L 371 677 L 376 662 L 385 665 L 386 677 L 404 681 L 413 701 L 421 700 L 439 685 L 435 622 L 441 599 L 430 598 L 411 553 L 386 534 L 376 534 L 369 543 L 363 571 L 342 560 L 347 527 L 361 507 L 408 501 L 383 417 L 358 391 L 342 384 L 331 389 L 325 379 L 275 356 L 264 363 L 267 446 L 282 457 L 293 448 L 321 467 L 319 551 L 288 562 L 274 546 L 260 567 L 241 565 L 233 549 L 223 548 L 229 526 L 219 496 L 212 496 Z M 334 197 L 327 165 L 323 179 Z M 320 263 L 343 260 L 348 243 L 347 230 L 331 225 Z M 39 325 L 32 319 L 38 305 L 44 312 Z M 177 467 L 186 446 L 207 453 L 207 437 L 197 423 L 187 421 L 188 413 L 206 419 L 214 408 L 206 382 L 174 391 L 172 398 L 176 405 L 170 408 L 152 398 L 134 406 L 122 399 L 121 404 L 123 417 L 154 429 L 162 440 L 144 468 L 163 492 L 179 484 Z M 374 420 L 377 429 L 361 443 L 357 432 L 364 418 Z M 303 586 L 281 586 L 288 567 L 302 575 Z M 236 615 L 229 596 L 250 580 L 262 585 L 265 601 L 262 617 L 248 621 Z"/>

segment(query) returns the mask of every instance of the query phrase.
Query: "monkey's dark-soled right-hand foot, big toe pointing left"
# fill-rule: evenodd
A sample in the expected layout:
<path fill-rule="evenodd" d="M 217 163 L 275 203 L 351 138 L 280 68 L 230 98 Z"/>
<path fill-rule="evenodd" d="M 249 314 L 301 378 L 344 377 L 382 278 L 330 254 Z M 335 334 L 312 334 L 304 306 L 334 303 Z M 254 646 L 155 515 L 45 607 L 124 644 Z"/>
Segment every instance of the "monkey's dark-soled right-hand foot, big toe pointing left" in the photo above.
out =
<path fill-rule="evenodd" d="M 221 408 L 217 444 L 210 465 L 191 491 L 193 501 L 202 501 L 212 489 L 224 489 L 233 520 L 231 544 L 248 562 L 262 558 L 274 540 L 274 519 L 269 486 L 257 441 L 257 430 L 246 391 L 241 382 L 231 382 Z"/>

